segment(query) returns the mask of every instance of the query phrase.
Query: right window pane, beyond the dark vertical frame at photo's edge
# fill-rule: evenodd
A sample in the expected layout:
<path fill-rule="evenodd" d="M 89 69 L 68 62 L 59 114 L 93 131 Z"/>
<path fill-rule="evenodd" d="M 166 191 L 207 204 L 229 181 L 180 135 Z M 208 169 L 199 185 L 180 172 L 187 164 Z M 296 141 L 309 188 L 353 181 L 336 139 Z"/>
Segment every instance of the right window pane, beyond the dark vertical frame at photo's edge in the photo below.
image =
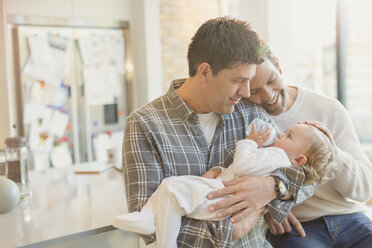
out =
<path fill-rule="evenodd" d="M 370 0 L 346 1 L 346 107 L 372 159 L 372 17 Z"/>

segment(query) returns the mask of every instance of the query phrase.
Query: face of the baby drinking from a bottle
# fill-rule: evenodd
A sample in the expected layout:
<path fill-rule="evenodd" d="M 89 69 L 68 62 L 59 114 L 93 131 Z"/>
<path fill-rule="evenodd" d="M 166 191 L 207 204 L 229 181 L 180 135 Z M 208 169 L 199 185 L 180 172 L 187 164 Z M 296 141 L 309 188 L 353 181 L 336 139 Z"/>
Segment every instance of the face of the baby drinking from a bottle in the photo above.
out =
<path fill-rule="evenodd" d="M 285 133 L 280 133 L 277 136 L 274 147 L 282 148 L 289 159 L 306 155 L 312 144 L 314 129 L 307 124 L 296 124 L 289 128 Z"/>

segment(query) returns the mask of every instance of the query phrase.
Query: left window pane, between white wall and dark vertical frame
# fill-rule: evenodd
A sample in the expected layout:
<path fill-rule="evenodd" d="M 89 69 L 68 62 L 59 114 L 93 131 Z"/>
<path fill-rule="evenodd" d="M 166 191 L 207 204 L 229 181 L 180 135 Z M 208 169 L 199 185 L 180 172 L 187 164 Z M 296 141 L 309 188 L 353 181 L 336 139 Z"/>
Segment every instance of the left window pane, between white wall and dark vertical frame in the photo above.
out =
<path fill-rule="evenodd" d="M 294 83 L 337 97 L 336 1 L 292 2 Z"/>

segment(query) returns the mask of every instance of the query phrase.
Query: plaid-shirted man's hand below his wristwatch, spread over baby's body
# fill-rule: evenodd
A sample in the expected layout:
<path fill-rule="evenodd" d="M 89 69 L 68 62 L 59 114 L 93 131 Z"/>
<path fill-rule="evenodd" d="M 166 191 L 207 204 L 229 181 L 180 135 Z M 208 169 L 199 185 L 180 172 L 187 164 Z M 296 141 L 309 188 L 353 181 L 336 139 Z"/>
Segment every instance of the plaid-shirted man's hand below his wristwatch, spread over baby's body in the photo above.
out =
<path fill-rule="evenodd" d="M 243 218 L 257 216 L 263 208 L 276 198 L 275 180 L 272 177 L 244 176 L 224 181 L 225 188 L 207 195 L 212 200 L 218 197 L 227 198 L 208 207 L 210 212 L 217 213 L 218 218 L 233 215 L 230 219 L 235 224 Z"/>

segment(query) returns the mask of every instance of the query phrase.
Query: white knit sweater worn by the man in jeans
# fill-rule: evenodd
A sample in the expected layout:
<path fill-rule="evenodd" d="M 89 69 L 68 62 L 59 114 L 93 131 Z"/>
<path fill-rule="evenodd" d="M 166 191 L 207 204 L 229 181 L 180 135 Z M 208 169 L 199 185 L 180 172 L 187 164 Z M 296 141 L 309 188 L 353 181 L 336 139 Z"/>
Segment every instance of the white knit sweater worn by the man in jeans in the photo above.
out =
<path fill-rule="evenodd" d="M 314 196 L 295 206 L 292 212 L 300 221 L 324 215 L 365 210 L 372 197 L 372 164 L 361 147 L 349 113 L 336 99 L 301 87 L 292 107 L 272 116 L 281 131 L 304 120 L 318 120 L 330 130 L 338 147 L 335 177 L 315 190 Z"/>

